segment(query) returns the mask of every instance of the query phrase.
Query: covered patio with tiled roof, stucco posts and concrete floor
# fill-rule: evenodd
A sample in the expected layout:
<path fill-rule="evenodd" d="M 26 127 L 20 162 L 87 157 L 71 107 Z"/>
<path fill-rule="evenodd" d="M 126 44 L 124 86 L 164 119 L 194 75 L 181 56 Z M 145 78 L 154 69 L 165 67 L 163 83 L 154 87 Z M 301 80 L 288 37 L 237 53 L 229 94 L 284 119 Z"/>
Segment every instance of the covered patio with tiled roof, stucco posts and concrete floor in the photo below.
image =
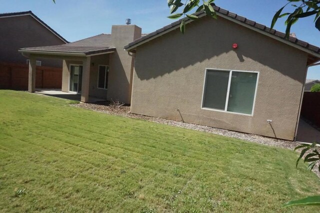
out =
<path fill-rule="evenodd" d="M 63 61 L 62 88 L 60 91 L 41 90 L 37 93 L 81 102 L 106 100 L 109 55 L 114 51 L 115 48 L 110 47 L 110 34 L 63 45 L 20 49 L 19 52 L 29 58 L 28 92 L 36 92 L 36 60 L 50 58 Z"/>

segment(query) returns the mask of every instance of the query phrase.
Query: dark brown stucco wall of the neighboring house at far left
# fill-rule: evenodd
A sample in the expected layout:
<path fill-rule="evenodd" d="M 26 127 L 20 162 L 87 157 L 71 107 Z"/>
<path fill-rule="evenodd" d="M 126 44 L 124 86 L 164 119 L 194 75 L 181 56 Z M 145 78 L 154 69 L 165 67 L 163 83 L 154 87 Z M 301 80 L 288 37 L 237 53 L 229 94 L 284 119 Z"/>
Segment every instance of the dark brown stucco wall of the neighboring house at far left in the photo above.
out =
<path fill-rule="evenodd" d="M 25 64 L 27 58 L 18 49 L 64 43 L 30 15 L 0 18 L 0 61 Z M 42 66 L 62 66 L 62 60 L 40 60 Z"/>

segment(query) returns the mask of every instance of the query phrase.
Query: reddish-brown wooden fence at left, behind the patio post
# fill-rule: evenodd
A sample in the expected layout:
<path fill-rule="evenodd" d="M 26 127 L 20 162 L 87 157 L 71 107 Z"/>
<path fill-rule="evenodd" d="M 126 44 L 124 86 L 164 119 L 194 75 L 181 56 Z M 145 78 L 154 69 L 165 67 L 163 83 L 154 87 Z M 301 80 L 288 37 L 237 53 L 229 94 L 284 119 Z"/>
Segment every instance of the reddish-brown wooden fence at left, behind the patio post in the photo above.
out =
<path fill-rule="evenodd" d="M 27 90 L 27 64 L 0 62 L 0 89 Z M 37 66 L 35 88 L 59 89 L 62 84 L 62 68 Z"/>

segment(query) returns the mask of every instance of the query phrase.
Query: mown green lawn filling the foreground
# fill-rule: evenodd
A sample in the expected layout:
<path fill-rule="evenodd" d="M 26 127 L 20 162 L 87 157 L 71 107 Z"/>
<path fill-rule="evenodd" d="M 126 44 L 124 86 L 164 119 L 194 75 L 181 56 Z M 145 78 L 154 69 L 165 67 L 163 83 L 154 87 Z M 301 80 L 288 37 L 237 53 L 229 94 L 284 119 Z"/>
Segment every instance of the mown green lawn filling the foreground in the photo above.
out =
<path fill-rule="evenodd" d="M 316 212 L 297 154 L 0 90 L 0 212 Z"/>

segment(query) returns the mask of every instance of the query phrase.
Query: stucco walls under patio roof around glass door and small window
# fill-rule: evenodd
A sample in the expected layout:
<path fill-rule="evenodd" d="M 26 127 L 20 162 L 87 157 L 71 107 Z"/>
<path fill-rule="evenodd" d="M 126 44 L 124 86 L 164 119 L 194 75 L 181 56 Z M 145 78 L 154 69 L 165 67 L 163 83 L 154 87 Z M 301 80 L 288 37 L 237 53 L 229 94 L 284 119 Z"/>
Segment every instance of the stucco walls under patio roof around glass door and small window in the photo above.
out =
<path fill-rule="evenodd" d="M 70 65 L 82 65 L 81 60 L 63 60 L 62 67 L 62 91 L 69 92 Z M 90 79 L 89 79 L 89 96 L 101 99 L 107 98 L 107 90 L 97 88 L 98 66 L 109 65 L 109 54 L 91 56 Z M 109 80 L 109 83 L 114 83 Z"/>

